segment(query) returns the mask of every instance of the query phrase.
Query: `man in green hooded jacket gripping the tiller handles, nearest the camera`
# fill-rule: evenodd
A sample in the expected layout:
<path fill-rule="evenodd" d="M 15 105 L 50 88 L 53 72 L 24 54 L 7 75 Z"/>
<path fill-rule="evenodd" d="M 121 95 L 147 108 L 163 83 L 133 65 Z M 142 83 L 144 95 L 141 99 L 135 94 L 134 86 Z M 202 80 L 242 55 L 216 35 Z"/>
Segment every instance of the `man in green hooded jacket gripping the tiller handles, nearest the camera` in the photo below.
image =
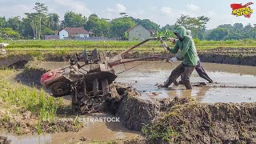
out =
<path fill-rule="evenodd" d="M 170 84 L 183 73 L 184 77 L 182 78 L 182 81 L 184 82 L 186 89 L 192 89 L 192 86 L 190 85 L 190 75 L 192 74 L 195 66 L 198 65 L 197 50 L 194 46 L 193 39 L 186 35 L 186 29 L 184 26 L 178 26 L 177 30 L 174 31 L 174 34 L 178 38 L 178 41 L 175 42 L 174 48 L 171 49 L 165 42 L 162 43 L 162 46 L 166 47 L 170 53 L 176 54 L 174 58 L 170 58 L 171 62 L 175 62 L 178 59 L 183 59 L 183 61 L 171 72 L 170 77 L 162 87 L 170 86 Z M 181 51 L 178 53 L 178 50 Z"/>

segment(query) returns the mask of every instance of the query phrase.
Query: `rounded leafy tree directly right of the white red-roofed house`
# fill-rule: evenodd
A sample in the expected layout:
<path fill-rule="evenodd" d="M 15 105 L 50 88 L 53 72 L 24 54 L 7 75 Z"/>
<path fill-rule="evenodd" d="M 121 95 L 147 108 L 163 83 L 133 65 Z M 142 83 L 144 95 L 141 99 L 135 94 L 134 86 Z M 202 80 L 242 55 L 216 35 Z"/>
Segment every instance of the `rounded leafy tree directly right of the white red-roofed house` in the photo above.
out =
<path fill-rule="evenodd" d="M 98 18 L 96 14 L 90 15 L 88 21 L 86 22 L 86 30 L 93 30 L 95 36 L 109 36 L 110 33 L 110 23 L 106 19 Z"/>

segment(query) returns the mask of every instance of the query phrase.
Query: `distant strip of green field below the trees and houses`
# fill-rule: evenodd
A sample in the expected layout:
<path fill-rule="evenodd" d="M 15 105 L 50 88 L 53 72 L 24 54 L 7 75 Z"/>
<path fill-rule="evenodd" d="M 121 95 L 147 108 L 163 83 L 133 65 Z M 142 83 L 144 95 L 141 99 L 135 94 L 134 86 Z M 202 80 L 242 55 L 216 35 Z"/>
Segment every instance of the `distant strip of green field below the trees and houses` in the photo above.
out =
<path fill-rule="evenodd" d="M 247 48 L 256 47 L 256 41 L 251 39 L 238 40 L 238 41 L 198 41 L 194 40 L 198 50 L 209 50 L 214 48 Z M 10 46 L 6 47 L 7 50 L 12 52 L 22 51 L 74 51 L 74 50 L 126 50 L 131 46 L 138 44 L 138 42 L 90 42 L 90 41 L 70 41 L 70 40 L 18 40 L 9 42 Z M 173 46 L 170 42 L 168 45 Z M 151 51 L 152 48 L 156 51 L 161 51 L 162 46 L 160 42 L 147 42 L 139 46 L 138 51 Z"/>

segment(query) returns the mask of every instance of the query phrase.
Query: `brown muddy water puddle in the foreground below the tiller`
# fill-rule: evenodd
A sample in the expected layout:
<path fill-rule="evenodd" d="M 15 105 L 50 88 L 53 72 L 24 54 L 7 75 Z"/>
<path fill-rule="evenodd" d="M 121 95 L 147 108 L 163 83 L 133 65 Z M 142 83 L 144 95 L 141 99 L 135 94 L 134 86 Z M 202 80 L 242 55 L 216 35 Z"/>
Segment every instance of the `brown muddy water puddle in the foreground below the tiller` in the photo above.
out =
<path fill-rule="evenodd" d="M 134 138 L 138 136 L 138 132 L 127 130 L 121 122 L 100 122 L 100 118 L 115 118 L 110 114 L 87 114 L 79 116 L 84 122 L 84 128 L 78 133 L 67 132 L 58 134 L 45 134 L 39 136 L 14 136 L 8 134 L 1 134 L 6 136 L 13 143 L 76 143 L 90 141 L 111 141 L 116 139 Z M 90 120 L 89 118 L 94 118 Z M 98 118 L 98 119 L 97 119 Z M 114 119 L 117 121 L 117 119 Z"/>

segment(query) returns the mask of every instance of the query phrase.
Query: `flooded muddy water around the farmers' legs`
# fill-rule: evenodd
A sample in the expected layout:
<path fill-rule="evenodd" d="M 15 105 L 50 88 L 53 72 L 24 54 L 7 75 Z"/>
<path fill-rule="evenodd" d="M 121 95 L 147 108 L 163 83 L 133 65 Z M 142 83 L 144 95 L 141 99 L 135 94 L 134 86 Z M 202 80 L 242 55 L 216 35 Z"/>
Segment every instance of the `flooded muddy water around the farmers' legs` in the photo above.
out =
<path fill-rule="evenodd" d="M 116 66 L 117 72 L 136 66 L 140 62 Z M 256 102 L 256 67 L 234 66 L 225 64 L 203 63 L 202 66 L 210 78 L 217 84 L 207 84 L 207 87 L 193 87 L 186 90 L 185 86 L 170 86 L 158 88 L 156 83 L 163 83 L 169 77 L 171 70 L 180 62 L 146 62 L 132 70 L 118 74 L 117 82 L 126 82 L 134 86 L 142 94 L 142 99 L 192 97 L 200 102 Z M 191 82 L 206 82 L 194 71 Z M 208 86 L 209 85 L 209 86 Z M 221 87 L 226 86 L 226 87 Z M 237 88 L 240 87 L 240 88 Z M 152 94 L 153 92 L 156 92 Z"/>

